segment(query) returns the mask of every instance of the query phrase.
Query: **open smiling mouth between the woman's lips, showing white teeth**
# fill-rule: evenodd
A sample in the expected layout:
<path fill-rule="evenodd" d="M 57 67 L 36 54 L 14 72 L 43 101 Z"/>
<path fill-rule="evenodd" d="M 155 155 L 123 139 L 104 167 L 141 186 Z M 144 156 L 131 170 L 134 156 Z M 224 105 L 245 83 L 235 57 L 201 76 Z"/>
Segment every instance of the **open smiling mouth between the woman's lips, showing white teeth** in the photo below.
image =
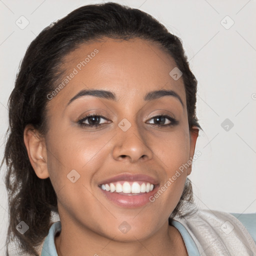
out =
<path fill-rule="evenodd" d="M 116 181 L 105 184 L 100 184 L 102 190 L 110 191 L 111 193 L 119 193 L 122 195 L 139 195 L 152 191 L 155 187 L 147 181 Z"/>

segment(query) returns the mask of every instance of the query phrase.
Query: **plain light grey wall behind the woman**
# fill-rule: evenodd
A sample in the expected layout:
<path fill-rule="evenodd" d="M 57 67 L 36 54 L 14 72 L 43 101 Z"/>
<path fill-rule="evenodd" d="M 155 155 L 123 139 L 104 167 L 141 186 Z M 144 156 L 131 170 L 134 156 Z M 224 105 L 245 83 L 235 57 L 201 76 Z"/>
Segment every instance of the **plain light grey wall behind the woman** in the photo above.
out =
<path fill-rule="evenodd" d="M 52 21 L 81 5 L 98 2 L 102 1 L 0 0 L 1 156 L 7 99 L 27 46 Z M 183 41 L 198 80 L 197 116 L 204 130 L 195 149 L 201 156 L 193 162 L 189 176 L 196 203 L 227 212 L 256 212 L 255 0 L 116 2 L 150 13 Z M 21 15 L 29 21 L 24 29 L 15 24 L 16 20 L 21 23 Z M 221 126 L 226 118 L 234 124 L 228 131 Z M 5 166 L 0 171 L 0 255 L 4 255 L 8 220 L 4 171 Z"/>

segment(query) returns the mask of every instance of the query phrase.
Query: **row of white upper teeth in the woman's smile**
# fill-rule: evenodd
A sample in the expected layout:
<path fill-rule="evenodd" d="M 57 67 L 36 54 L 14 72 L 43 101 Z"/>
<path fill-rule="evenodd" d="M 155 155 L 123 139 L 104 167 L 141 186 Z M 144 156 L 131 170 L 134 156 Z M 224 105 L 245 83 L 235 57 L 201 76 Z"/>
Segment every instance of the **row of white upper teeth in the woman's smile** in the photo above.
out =
<path fill-rule="evenodd" d="M 123 193 L 143 193 L 143 192 L 149 192 L 152 191 L 154 188 L 153 184 L 150 183 L 142 183 L 139 185 L 138 182 L 132 182 L 131 185 L 129 182 L 125 181 L 122 185 L 120 183 L 116 183 L 114 185 L 113 183 L 108 184 L 102 184 L 101 189 L 110 191 L 110 192 L 123 192 Z"/>

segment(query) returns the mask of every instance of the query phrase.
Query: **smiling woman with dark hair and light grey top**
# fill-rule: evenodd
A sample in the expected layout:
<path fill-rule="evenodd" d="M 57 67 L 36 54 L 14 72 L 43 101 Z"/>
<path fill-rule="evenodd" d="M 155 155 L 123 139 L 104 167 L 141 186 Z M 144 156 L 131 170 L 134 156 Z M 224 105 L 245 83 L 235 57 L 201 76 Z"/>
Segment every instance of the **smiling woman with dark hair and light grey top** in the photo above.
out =
<path fill-rule="evenodd" d="M 138 9 L 86 5 L 46 27 L 9 99 L 7 242 L 41 256 L 256 253 L 249 218 L 193 205 L 196 84 L 179 38 Z"/>

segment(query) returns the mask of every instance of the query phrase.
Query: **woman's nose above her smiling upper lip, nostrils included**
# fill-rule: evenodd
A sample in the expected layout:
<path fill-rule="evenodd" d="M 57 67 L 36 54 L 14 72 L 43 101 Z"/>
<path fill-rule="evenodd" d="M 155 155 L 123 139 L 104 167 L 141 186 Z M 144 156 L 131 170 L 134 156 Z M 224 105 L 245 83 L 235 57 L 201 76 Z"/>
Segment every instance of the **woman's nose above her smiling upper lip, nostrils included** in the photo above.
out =
<path fill-rule="evenodd" d="M 153 152 L 147 145 L 145 133 L 142 135 L 137 125 L 132 124 L 126 131 L 117 127 L 117 136 L 114 137 L 112 156 L 115 160 L 136 162 L 152 158 Z"/>

